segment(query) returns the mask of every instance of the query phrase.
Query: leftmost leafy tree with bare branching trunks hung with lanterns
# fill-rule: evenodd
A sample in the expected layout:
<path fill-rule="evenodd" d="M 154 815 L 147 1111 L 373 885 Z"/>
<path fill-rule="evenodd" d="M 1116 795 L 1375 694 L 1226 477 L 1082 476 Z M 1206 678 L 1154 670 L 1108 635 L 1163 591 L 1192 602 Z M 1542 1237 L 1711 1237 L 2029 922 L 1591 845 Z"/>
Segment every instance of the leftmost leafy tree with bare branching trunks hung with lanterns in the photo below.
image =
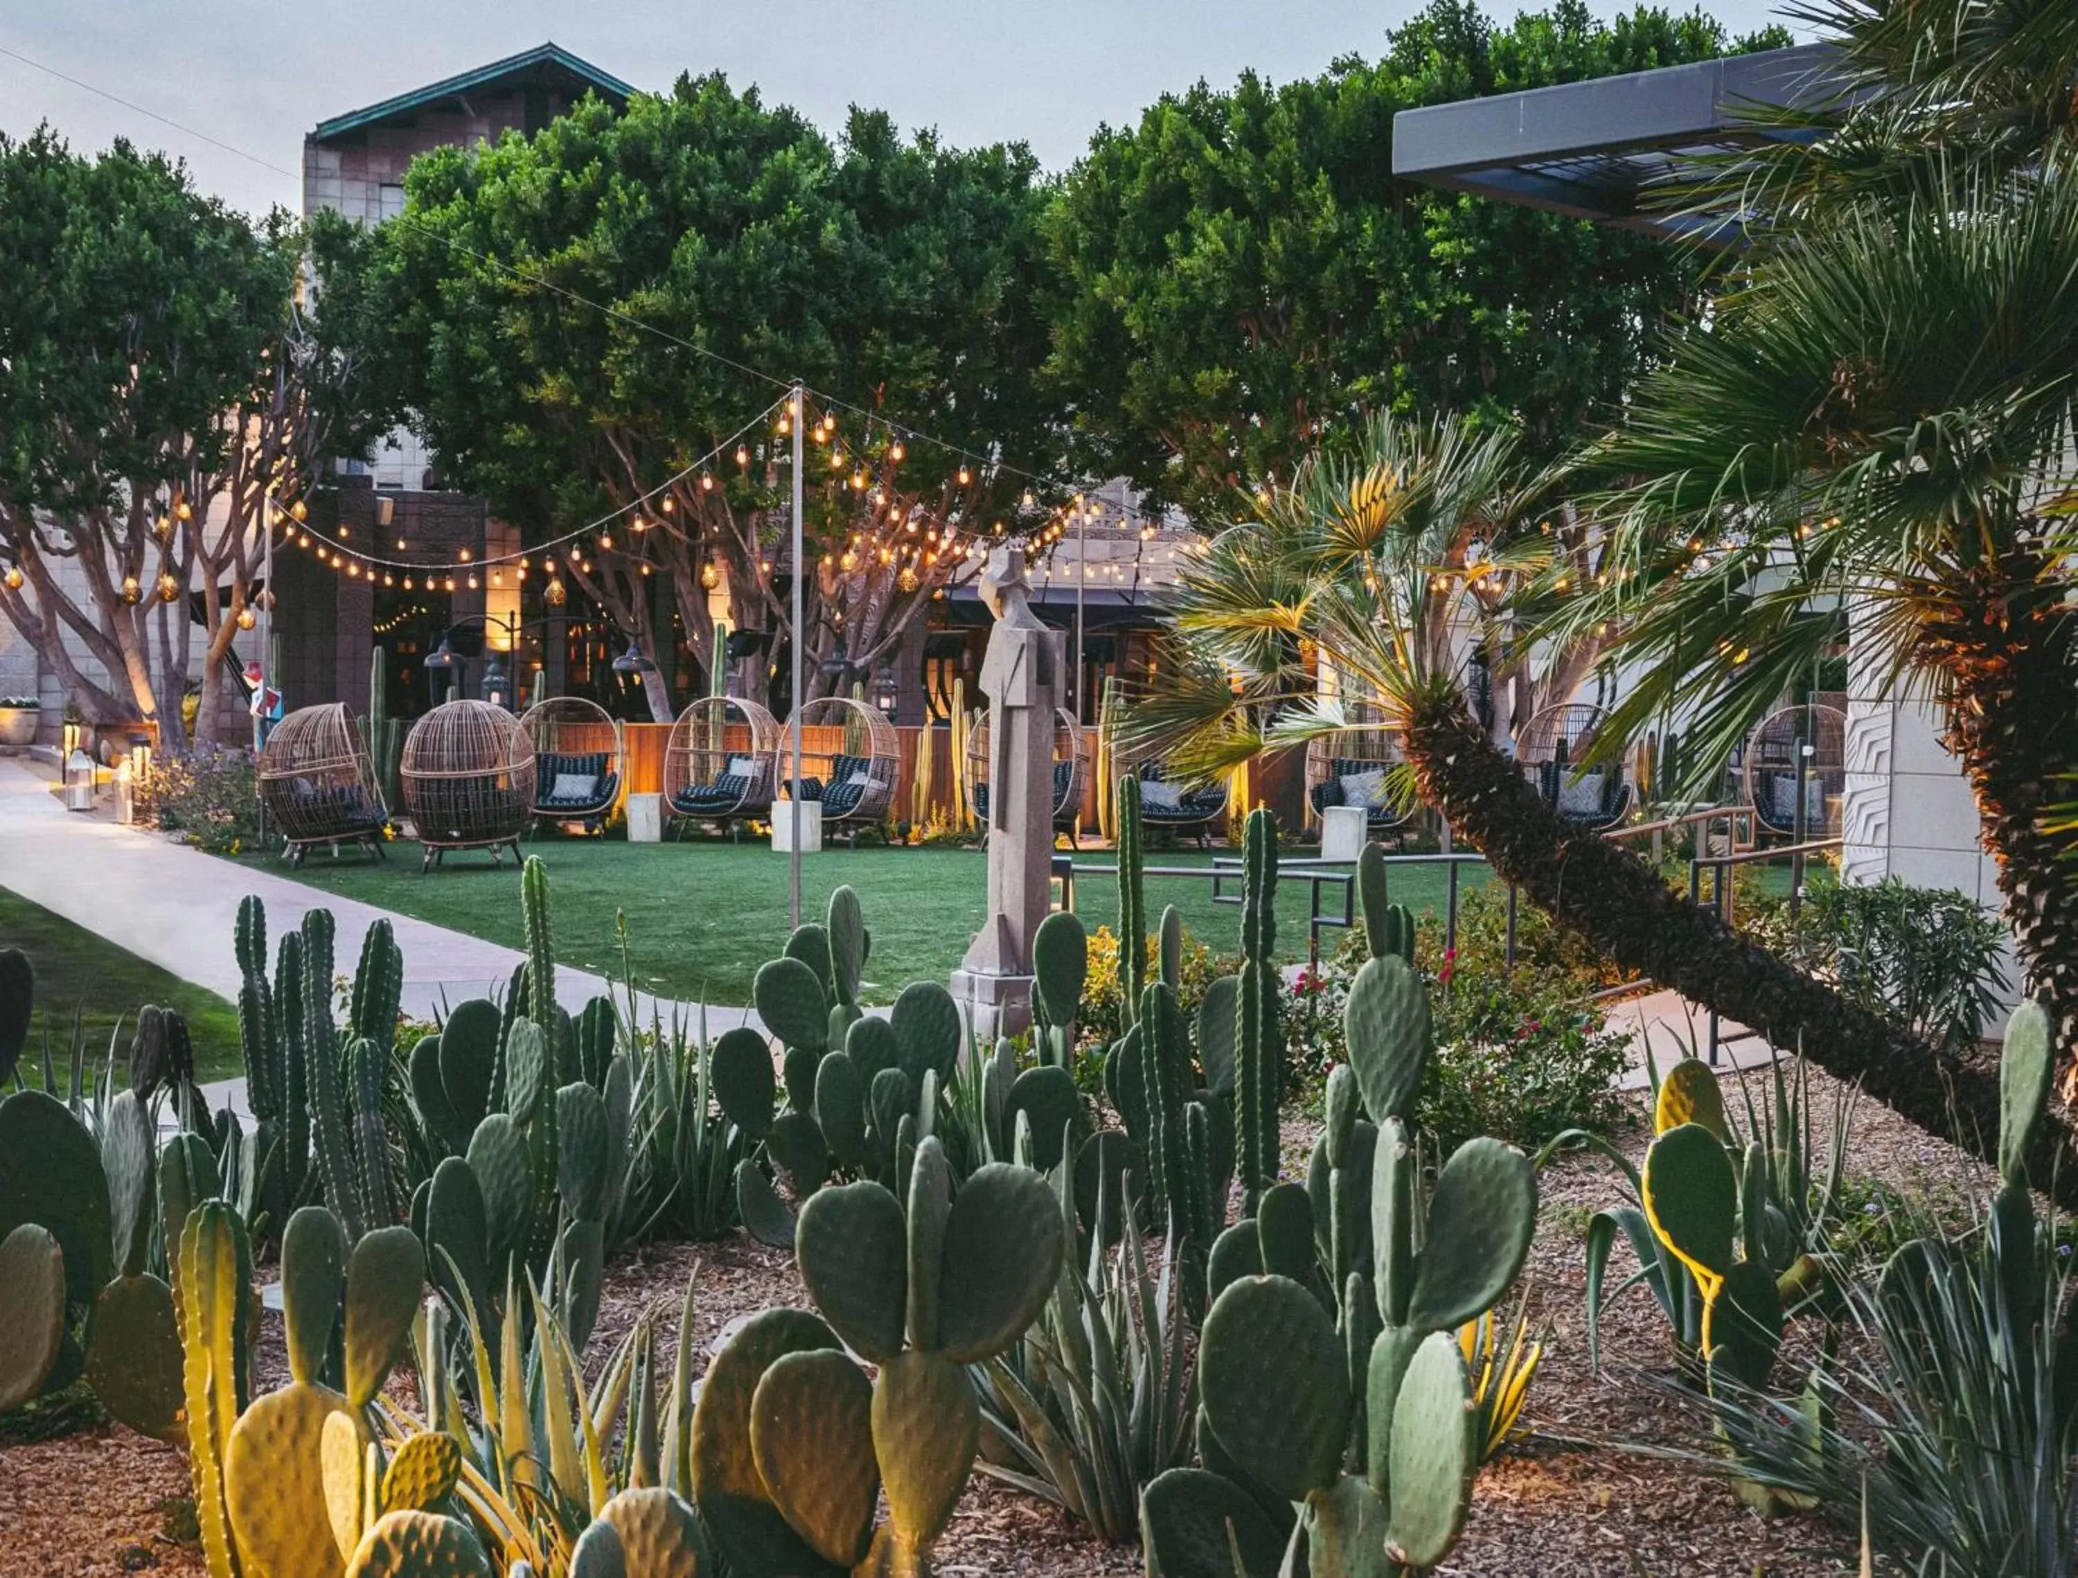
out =
<path fill-rule="evenodd" d="M 166 753 L 189 674 L 216 721 L 268 495 L 368 435 L 301 256 L 160 154 L 0 137 L 0 613 L 87 719 L 152 719 Z"/>

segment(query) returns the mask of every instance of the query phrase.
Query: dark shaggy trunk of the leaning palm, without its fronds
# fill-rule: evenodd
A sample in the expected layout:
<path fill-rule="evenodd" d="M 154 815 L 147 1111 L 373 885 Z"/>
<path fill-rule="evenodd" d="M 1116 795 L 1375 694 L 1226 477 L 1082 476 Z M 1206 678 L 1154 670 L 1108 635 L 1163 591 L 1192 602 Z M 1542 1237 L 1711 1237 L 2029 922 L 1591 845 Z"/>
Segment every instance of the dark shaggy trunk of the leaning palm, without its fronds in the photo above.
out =
<path fill-rule="evenodd" d="M 1561 925 L 1629 971 L 1800 1048 L 1856 1081 L 1920 1129 L 1993 1160 L 1999 1135 L 1995 1067 L 1945 1056 L 1847 1002 L 1822 981 L 1675 894 L 1619 844 L 1567 823 L 1480 730 L 1457 696 L 1407 717 L 1407 757 L 1453 832 L 1475 844 Z M 2078 1168 L 2057 1166 L 2068 1133 L 2045 1123 L 2028 1171 L 2036 1187 L 2078 1204 Z"/>

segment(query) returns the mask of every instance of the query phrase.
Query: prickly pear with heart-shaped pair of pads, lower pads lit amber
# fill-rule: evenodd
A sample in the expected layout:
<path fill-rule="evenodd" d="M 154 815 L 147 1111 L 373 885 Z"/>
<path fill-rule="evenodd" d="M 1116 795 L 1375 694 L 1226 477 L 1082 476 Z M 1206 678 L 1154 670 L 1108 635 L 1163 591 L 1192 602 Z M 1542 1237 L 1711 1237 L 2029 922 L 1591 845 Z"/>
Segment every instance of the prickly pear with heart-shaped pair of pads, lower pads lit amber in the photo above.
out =
<path fill-rule="evenodd" d="M 694 1499 L 731 1570 L 929 1572 L 981 1445 L 964 1366 L 1024 1335 L 1064 1241 L 1045 1179 L 991 1162 L 954 1189 L 935 1135 L 914 1146 L 906 1208 L 873 1181 L 817 1191 L 796 1260 L 821 1318 L 767 1310 L 744 1324 L 692 1422 Z M 883 1495 L 889 1522 L 875 1528 Z"/>

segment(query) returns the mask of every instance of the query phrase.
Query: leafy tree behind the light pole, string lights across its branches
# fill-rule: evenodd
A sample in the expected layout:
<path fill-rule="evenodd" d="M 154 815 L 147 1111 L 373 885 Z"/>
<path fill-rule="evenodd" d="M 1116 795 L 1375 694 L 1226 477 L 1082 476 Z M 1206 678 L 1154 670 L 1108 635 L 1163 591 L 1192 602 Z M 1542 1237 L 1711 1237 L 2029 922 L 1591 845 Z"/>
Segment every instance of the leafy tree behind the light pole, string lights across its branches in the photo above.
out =
<path fill-rule="evenodd" d="M 542 541 L 721 447 L 642 530 L 559 574 L 646 642 L 665 578 L 702 665 L 702 580 L 725 578 L 734 626 L 773 636 L 746 694 L 788 638 L 790 574 L 788 439 L 758 424 L 783 389 L 746 368 L 844 401 L 810 395 L 806 414 L 819 690 L 844 682 L 840 647 L 877 661 L 979 572 L 979 538 L 1039 518 L 997 466 L 1043 462 L 1058 426 L 1033 376 L 1041 193 L 1022 148 L 904 139 L 862 110 L 831 143 L 754 89 L 682 77 L 625 112 L 586 102 L 532 139 L 428 154 L 405 193 L 376 258 L 384 360 L 447 482 Z"/>

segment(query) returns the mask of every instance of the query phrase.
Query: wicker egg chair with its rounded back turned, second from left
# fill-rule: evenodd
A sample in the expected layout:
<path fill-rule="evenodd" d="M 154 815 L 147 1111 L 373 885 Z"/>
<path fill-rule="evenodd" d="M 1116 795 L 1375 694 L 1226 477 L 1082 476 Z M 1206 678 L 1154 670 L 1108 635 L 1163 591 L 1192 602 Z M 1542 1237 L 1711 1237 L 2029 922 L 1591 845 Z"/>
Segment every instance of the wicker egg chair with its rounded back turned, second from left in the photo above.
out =
<path fill-rule="evenodd" d="M 520 719 L 488 701 L 449 701 L 403 742 L 403 805 L 430 871 L 449 850 L 486 848 L 495 865 L 534 817 L 534 742 Z"/>

